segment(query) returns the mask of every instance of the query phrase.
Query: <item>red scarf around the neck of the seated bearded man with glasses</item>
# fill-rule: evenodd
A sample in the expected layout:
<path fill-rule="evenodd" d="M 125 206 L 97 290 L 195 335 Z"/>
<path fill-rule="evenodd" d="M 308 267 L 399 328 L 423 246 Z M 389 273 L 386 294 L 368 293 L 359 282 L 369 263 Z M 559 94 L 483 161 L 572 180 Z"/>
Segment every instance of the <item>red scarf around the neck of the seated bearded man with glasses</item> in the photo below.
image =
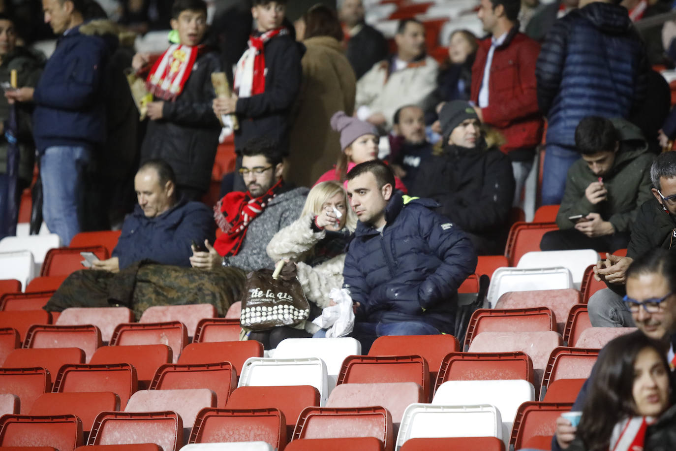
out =
<path fill-rule="evenodd" d="M 247 235 L 251 221 L 265 210 L 282 186 L 282 180 L 260 197 L 251 197 L 249 191 L 228 193 L 214 206 L 214 219 L 223 231 L 214 243 L 214 249 L 221 256 L 237 255 Z"/>

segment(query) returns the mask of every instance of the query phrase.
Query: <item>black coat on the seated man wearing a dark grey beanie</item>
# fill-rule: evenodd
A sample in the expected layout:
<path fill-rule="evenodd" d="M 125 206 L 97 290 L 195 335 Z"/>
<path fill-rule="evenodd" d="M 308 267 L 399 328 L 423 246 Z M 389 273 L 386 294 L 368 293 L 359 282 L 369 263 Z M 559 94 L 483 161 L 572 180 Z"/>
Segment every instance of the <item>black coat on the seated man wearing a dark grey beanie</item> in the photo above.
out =
<path fill-rule="evenodd" d="M 439 202 L 439 213 L 477 237 L 477 253 L 502 254 L 514 199 L 512 163 L 498 148 L 483 147 L 446 146 L 420 164 L 409 191 Z"/>

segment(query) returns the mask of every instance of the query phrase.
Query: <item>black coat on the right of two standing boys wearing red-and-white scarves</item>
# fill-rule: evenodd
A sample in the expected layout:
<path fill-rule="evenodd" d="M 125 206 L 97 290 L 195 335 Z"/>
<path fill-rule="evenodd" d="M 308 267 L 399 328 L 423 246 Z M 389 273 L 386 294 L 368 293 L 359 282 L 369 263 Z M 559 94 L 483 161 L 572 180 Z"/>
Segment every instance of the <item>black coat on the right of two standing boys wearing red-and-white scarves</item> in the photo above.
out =
<path fill-rule="evenodd" d="M 289 151 L 289 113 L 300 90 L 303 69 L 300 60 L 305 46 L 289 34 L 265 43 L 265 92 L 240 97 L 237 101 L 239 130 L 235 148 L 240 151 L 251 138 L 265 136 L 278 148 Z"/>

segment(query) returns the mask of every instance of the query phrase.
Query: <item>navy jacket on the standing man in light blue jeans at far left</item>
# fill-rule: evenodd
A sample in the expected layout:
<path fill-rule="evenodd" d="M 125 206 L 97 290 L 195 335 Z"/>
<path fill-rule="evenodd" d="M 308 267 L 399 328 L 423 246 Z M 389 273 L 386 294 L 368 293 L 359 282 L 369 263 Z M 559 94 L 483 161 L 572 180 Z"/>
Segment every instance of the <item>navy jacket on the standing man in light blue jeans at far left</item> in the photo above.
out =
<path fill-rule="evenodd" d="M 79 26 L 59 38 L 33 94 L 39 152 L 105 141 L 105 65 L 117 45 L 116 36 L 89 36 Z"/>

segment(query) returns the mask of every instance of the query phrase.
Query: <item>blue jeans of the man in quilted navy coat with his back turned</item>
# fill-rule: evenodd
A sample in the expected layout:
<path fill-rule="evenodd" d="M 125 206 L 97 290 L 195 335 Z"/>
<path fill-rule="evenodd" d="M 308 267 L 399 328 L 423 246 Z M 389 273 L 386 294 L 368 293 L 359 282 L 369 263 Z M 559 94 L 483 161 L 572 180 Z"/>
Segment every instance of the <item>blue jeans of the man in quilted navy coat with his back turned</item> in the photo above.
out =
<path fill-rule="evenodd" d="M 580 154 L 573 147 L 547 145 L 542 169 L 542 205 L 561 203 L 568 170 L 579 158 Z"/>

